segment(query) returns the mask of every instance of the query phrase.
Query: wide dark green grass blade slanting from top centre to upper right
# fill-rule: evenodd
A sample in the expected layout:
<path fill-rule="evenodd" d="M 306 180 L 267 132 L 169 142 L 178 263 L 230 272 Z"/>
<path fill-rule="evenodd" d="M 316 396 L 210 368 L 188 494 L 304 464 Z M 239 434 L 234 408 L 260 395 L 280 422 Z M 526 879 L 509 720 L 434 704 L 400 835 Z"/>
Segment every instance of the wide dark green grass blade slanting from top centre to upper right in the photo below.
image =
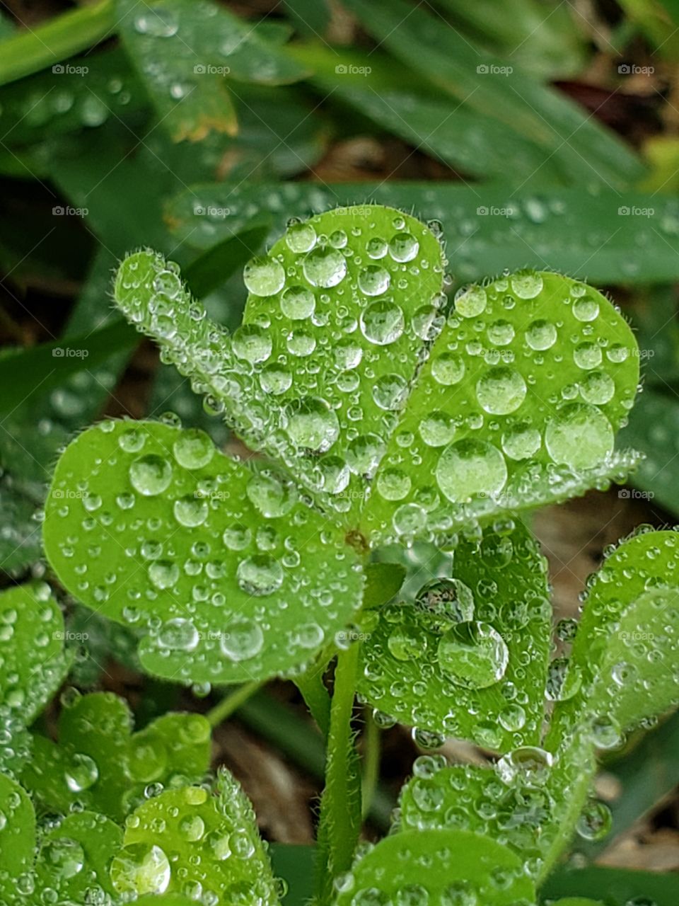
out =
<path fill-rule="evenodd" d="M 406 0 L 345 0 L 345 5 L 397 59 L 508 131 L 535 141 L 559 161 L 563 176 L 625 188 L 643 169 L 626 146 L 574 103 L 493 59 L 440 17 Z M 568 141 L 564 137 L 569 136 Z"/>

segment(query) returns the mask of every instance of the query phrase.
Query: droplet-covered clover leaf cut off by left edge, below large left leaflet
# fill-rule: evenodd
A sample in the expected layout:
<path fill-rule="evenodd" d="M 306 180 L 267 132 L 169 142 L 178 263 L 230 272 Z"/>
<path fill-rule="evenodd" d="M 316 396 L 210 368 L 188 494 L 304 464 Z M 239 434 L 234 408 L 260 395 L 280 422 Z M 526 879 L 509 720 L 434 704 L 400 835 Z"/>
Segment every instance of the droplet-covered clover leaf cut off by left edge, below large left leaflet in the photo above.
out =
<path fill-rule="evenodd" d="M 63 617 L 49 585 L 16 585 L 0 593 L 1 704 L 28 726 L 52 699 L 69 668 Z"/>

